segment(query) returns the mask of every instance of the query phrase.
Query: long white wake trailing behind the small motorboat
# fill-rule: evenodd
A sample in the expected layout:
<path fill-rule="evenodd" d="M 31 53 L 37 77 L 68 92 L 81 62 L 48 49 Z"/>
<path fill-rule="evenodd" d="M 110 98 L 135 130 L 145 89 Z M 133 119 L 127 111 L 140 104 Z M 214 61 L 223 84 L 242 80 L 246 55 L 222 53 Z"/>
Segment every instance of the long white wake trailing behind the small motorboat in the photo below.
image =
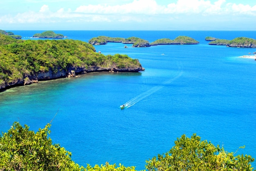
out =
<path fill-rule="evenodd" d="M 181 71 L 177 76 L 175 76 L 174 78 L 163 82 L 162 84 L 155 86 L 151 89 L 149 89 L 148 91 L 145 91 L 144 93 L 141 93 L 139 95 L 137 95 L 135 98 L 130 99 L 128 102 L 126 102 L 124 104 L 125 108 L 131 107 L 134 104 L 136 104 L 137 102 L 143 100 L 144 98 L 148 97 L 149 95 L 155 93 L 156 91 L 162 89 L 163 87 L 165 87 L 166 85 L 170 84 L 171 82 L 173 82 L 174 80 L 176 80 L 177 78 L 180 78 L 180 76 L 182 76 L 183 71 Z"/>

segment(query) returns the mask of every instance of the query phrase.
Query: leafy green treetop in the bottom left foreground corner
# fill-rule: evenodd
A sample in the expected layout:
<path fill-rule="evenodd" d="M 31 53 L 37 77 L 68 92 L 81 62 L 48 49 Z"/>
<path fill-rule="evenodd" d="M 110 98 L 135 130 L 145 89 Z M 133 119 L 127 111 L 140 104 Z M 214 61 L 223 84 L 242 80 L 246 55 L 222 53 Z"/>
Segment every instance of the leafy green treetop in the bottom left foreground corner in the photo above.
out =
<path fill-rule="evenodd" d="M 80 171 L 71 160 L 71 153 L 47 138 L 50 124 L 38 132 L 29 131 L 14 122 L 7 133 L 0 136 L 0 171 Z"/>

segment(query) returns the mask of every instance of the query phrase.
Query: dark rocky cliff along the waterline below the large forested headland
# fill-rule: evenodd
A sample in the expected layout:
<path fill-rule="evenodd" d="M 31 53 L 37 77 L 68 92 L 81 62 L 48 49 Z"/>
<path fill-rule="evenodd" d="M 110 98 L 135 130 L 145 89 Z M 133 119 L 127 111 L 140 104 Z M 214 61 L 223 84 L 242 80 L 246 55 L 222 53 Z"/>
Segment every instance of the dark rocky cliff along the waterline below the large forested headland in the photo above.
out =
<path fill-rule="evenodd" d="M 26 75 L 23 77 L 23 79 L 18 79 L 16 81 L 13 81 L 8 84 L 0 84 L 0 91 L 4 89 L 8 89 L 11 87 L 17 87 L 17 86 L 22 86 L 26 84 L 32 84 L 38 81 L 43 81 L 43 80 L 52 80 L 52 79 L 57 79 L 57 78 L 65 78 L 65 77 L 72 77 L 77 74 L 83 74 L 83 73 L 90 73 L 90 72 L 101 72 L 101 71 L 114 71 L 114 72 L 139 72 L 139 71 L 144 71 L 145 69 L 143 67 L 124 67 L 124 68 L 117 68 L 116 66 L 112 66 L 109 68 L 105 67 L 96 67 L 96 66 L 91 66 L 88 68 L 67 68 L 67 71 L 64 70 L 59 70 L 55 73 L 52 71 L 52 69 L 49 69 L 47 72 L 40 72 L 36 73 L 35 75 Z"/>

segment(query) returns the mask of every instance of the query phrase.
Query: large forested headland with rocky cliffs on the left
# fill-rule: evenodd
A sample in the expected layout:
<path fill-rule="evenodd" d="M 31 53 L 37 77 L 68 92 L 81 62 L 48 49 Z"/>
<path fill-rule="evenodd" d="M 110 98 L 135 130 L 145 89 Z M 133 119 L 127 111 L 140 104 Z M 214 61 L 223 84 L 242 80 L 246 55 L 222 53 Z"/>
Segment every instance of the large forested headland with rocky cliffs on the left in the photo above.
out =
<path fill-rule="evenodd" d="M 141 70 L 137 59 L 104 56 L 80 40 L 16 40 L 0 34 L 0 90 L 69 73 Z"/>

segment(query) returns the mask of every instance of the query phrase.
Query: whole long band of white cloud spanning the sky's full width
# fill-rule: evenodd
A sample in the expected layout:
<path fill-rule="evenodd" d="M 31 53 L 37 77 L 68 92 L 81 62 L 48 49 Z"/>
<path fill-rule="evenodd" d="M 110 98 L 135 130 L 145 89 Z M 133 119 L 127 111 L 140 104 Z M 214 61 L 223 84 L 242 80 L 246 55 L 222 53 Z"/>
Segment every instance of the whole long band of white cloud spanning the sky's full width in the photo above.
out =
<path fill-rule="evenodd" d="M 33 1 L 33 0 L 32 0 Z M 35 0 L 36 2 L 37 0 Z M 83 2 L 83 1 L 81 1 Z M 49 3 L 50 4 L 50 3 Z M 54 22 L 168 22 L 175 20 L 221 20 L 225 16 L 256 16 L 256 5 L 227 3 L 225 0 L 177 0 L 166 5 L 156 0 L 133 0 L 125 4 L 81 5 L 75 10 L 60 7 L 51 11 L 44 4 L 38 11 L 0 16 L 0 23 L 54 23 Z M 200 18 L 202 17 L 202 18 Z M 189 21 L 190 21 L 189 20 Z M 180 21 L 179 21 L 180 22 Z"/>

